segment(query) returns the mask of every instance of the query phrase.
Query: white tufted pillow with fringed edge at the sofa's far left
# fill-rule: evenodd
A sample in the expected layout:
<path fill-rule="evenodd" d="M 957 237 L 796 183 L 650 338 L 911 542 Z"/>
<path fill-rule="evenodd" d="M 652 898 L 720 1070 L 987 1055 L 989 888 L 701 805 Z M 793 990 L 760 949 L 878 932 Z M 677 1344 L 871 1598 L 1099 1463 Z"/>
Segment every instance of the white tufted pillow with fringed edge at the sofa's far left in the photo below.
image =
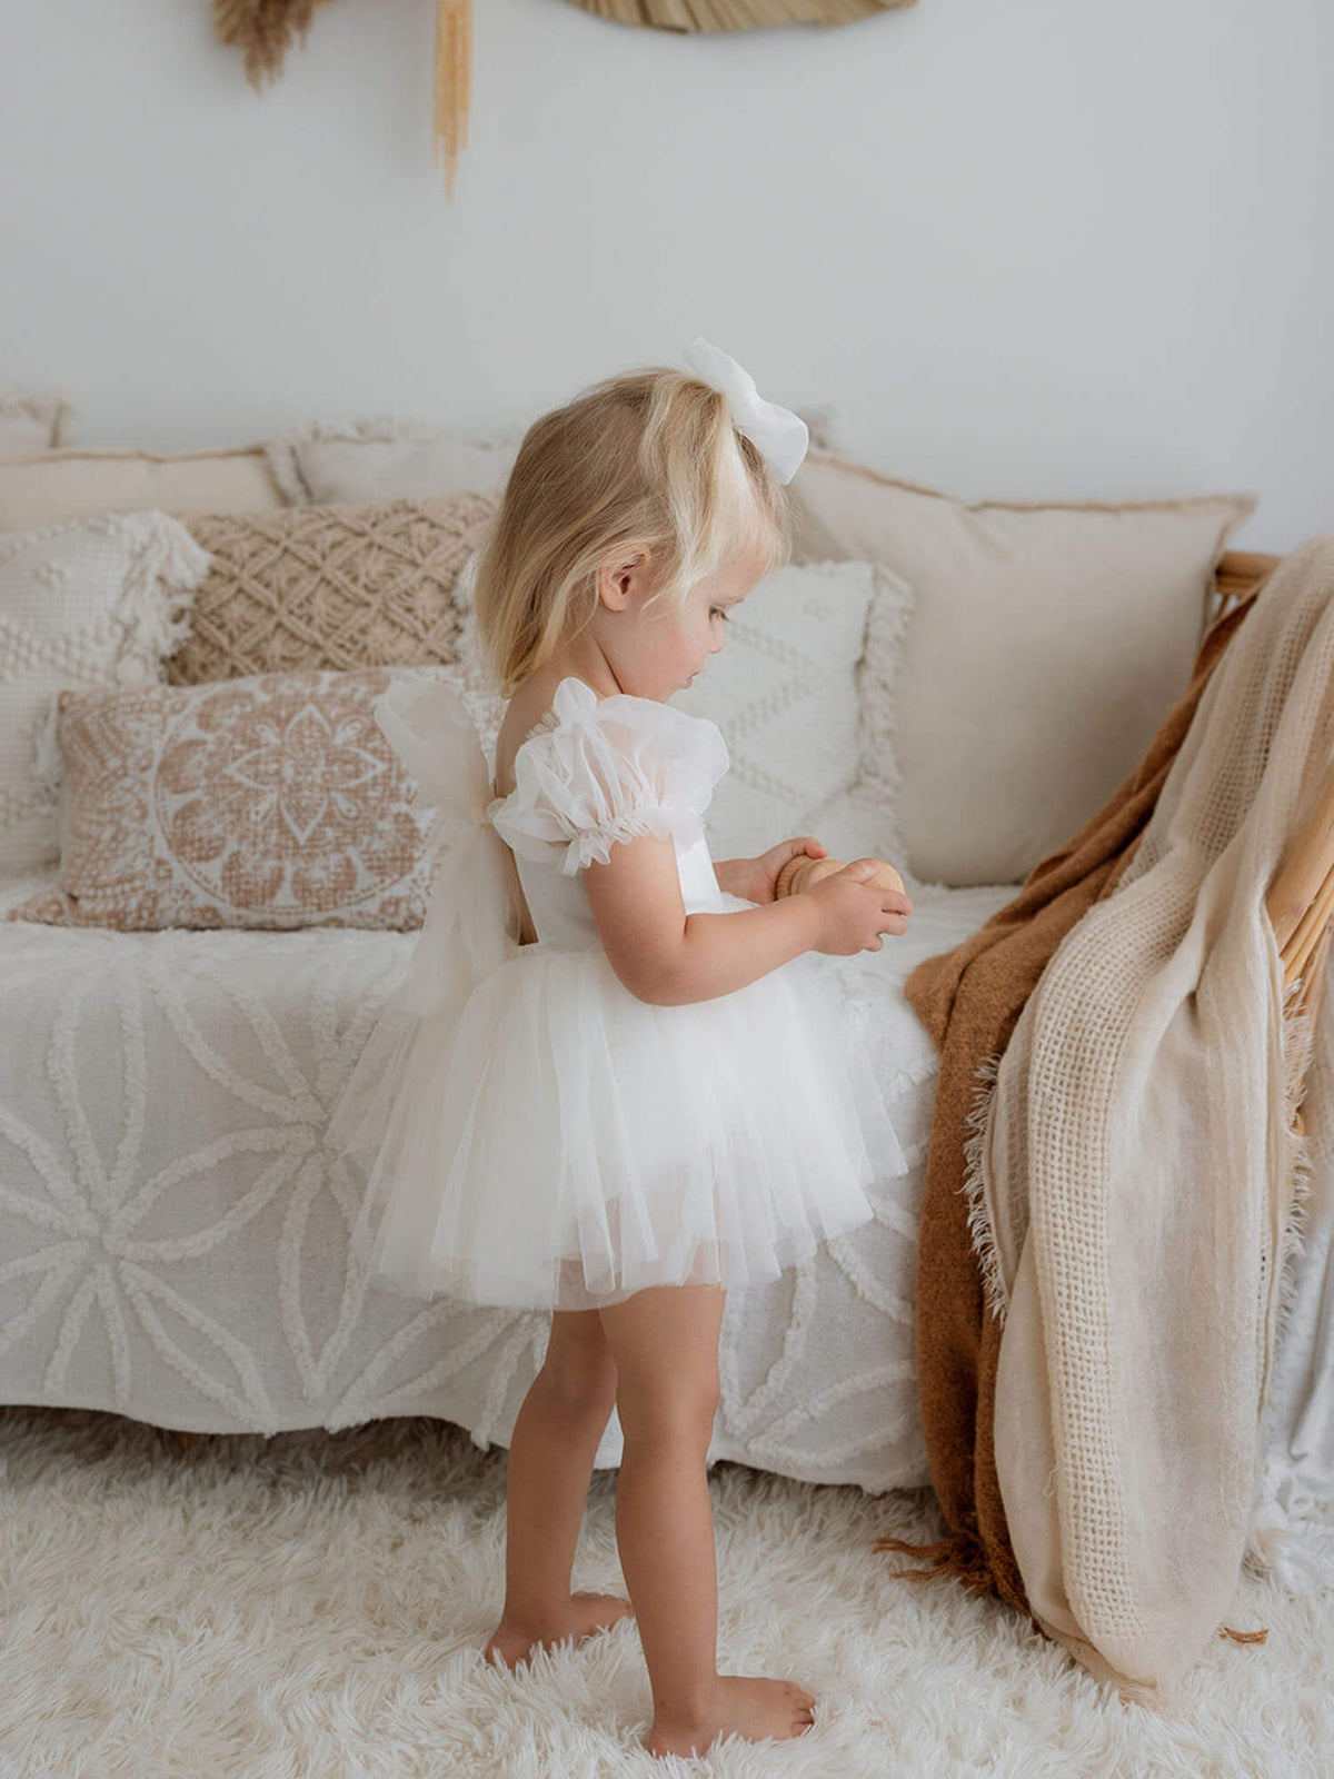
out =
<path fill-rule="evenodd" d="M 153 685 L 187 639 L 212 557 L 165 512 L 107 512 L 0 537 L 0 872 L 60 859 L 64 688 Z"/>

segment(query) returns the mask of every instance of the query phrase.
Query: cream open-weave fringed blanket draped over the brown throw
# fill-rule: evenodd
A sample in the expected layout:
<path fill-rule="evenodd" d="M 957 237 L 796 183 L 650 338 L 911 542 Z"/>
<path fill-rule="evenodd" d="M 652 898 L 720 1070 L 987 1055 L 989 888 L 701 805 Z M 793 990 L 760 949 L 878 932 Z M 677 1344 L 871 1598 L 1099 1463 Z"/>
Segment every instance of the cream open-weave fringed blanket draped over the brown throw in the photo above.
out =
<path fill-rule="evenodd" d="M 978 1103 L 1003 1334 L 994 1446 L 1041 1626 L 1167 1703 L 1252 1526 L 1316 1005 L 1265 895 L 1334 772 L 1334 532 L 1270 576 L 1115 891 L 1065 934 Z M 1307 1101 L 1307 1115 L 1314 1108 Z"/>

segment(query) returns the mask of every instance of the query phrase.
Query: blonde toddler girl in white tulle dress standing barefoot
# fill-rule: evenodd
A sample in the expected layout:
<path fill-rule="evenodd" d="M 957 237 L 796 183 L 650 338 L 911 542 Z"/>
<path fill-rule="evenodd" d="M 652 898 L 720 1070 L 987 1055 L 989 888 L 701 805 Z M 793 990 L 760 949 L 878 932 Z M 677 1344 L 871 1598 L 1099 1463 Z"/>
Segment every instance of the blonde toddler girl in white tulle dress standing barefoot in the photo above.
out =
<path fill-rule="evenodd" d="M 710 857 L 727 747 L 669 699 L 788 560 L 806 427 L 706 340 L 687 363 L 610 377 L 523 439 L 475 582 L 509 694 L 494 776 L 443 681 L 400 680 L 377 704 L 446 843 L 331 1123 L 370 1165 L 354 1249 L 374 1270 L 551 1311 L 509 1448 L 486 1654 L 514 1667 L 633 1605 L 655 1754 L 813 1720 L 800 1685 L 717 1670 L 724 1293 L 863 1224 L 866 1188 L 907 1165 L 804 954 L 879 952 L 911 900 L 872 888 L 868 859 L 775 898 L 793 854 L 825 854 L 811 834 Z M 612 1405 L 630 1601 L 571 1592 Z"/>

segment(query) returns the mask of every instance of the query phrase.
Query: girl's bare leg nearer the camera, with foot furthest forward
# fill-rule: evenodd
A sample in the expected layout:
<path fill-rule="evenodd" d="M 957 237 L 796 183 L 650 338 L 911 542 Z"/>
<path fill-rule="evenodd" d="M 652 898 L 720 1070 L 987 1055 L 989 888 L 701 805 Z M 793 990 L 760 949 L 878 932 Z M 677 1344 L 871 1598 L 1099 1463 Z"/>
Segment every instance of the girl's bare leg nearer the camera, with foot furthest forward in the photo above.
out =
<path fill-rule="evenodd" d="M 601 1309 L 626 1437 L 615 1537 L 653 1683 L 651 1754 L 703 1754 L 729 1731 L 799 1736 L 815 1701 L 792 1681 L 719 1674 L 708 1443 L 724 1292 L 665 1284 Z"/>

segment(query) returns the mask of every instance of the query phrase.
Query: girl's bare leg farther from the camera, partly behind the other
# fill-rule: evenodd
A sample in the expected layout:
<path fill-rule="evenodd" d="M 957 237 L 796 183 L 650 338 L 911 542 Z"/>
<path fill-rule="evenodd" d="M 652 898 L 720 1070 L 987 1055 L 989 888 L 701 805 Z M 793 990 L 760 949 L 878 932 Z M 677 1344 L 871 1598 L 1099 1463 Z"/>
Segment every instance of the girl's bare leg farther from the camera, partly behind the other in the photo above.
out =
<path fill-rule="evenodd" d="M 615 1361 L 598 1311 L 557 1309 L 505 1464 L 505 1610 L 487 1660 L 512 1669 L 535 1644 L 578 1642 L 630 1615 L 630 1601 L 615 1594 L 569 1590 L 592 1461 L 614 1402 Z"/>

